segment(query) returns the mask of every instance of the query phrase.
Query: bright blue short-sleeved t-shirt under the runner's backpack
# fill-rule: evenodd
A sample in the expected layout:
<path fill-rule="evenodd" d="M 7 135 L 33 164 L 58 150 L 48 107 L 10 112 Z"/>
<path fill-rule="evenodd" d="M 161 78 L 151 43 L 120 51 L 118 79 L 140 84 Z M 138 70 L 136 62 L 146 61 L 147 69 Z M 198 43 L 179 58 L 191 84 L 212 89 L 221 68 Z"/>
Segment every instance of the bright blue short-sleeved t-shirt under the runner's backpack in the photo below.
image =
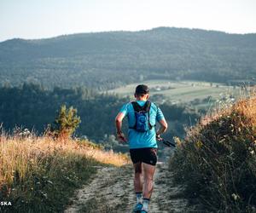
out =
<path fill-rule="evenodd" d="M 137 103 L 143 107 L 146 101 L 137 101 Z M 135 112 L 131 102 L 125 104 L 120 112 L 124 113 L 128 118 L 129 127 L 134 126 L 136 123 Z M 130 148 L 146 148 L 146 147 L 157 147 L 157 142 L 155 138 L 154 125 L 156 121 L 165 119 L 163 112 L 161 112 L 160 107 L 157 107 L 153 102 L 151 102 L 151 107 L 149 109 L 149 122 L 153 126 L 151 130 L 146 132 L 138 132 L 134 129 L 128 130 L 128 141 Z"/>

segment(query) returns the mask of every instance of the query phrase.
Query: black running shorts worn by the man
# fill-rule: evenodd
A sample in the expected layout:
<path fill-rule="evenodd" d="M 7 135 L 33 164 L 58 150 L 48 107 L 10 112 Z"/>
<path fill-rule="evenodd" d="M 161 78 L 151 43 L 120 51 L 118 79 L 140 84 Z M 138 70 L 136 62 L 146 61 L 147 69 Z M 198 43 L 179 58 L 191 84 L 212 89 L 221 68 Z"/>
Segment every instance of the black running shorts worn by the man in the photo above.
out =
<path fill-rule="evenodd" d="M 134 148 L 130 149 L 131 161 L 133 164 L 143 162 L 155 165 L 157 162 L 157 148 Z"/>

